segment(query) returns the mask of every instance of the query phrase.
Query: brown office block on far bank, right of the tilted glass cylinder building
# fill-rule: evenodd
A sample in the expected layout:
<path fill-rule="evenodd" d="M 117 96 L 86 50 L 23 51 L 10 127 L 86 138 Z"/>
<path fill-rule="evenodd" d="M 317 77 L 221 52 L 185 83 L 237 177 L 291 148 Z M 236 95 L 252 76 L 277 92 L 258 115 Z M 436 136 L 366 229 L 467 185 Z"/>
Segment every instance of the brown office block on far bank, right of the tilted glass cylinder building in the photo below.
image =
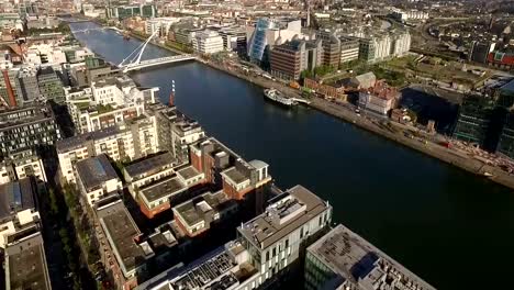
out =
<path fill-rule="evenodd" d="M 313 71 L 321 66 L 322 59 L 322 40 L 294 38 L 271 49 L 271 75 L 286 80 L 298 80 L 303 70 Z"/>

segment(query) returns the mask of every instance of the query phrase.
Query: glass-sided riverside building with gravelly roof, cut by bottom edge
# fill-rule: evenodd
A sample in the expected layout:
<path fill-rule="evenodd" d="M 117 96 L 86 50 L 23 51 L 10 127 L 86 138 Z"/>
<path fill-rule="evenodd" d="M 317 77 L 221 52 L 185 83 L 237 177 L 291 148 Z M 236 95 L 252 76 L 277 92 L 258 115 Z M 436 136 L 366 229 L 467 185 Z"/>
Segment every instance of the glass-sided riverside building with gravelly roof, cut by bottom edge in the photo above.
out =
<path fill-rule="evenodd" d="M 435 290 L 340 224 L 308 247 L 305 289 Z"/>

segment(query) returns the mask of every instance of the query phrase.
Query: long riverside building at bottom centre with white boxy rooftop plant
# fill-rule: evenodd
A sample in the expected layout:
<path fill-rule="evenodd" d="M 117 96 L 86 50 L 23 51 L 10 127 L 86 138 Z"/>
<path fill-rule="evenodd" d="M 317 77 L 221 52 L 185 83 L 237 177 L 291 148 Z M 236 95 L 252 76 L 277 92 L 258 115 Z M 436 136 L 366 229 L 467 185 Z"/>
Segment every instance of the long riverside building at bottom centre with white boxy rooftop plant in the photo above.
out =
<path fill-rule="evenodd" d="M 238 237 L 188 267 L 180 265 L 138 289 L 258 289 L 298 268 L 302 253 L 329 225 L 332 207 L 295 186 L 269 201 L 266 212 L 237 227 Z"/>

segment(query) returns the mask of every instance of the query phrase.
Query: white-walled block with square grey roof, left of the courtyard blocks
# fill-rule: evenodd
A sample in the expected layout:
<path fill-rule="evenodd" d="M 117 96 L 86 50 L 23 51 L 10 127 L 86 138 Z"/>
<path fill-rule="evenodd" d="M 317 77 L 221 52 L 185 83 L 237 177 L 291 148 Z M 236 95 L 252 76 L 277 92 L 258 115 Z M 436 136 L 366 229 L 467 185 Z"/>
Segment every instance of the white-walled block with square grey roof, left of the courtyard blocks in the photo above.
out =
<path fill-rule="evenodd" d="M 110 194 L 119 194 L 121 179 L 105 154 L 77 161 L 77 187 L 90 207 Z"/>

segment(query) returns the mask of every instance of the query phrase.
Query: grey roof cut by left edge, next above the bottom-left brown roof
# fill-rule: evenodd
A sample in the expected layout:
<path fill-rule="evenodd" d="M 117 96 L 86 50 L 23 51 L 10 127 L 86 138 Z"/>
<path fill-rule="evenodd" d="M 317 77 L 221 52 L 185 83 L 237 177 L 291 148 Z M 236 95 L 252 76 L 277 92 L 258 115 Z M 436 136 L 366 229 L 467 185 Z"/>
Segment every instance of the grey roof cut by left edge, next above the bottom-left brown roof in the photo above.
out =
<path fill-rule="evenodd" d="M 35 209 L 34 194 L 31 178 L 0 186 L 0 221 L 11 220 L 16 212 Z"/>

